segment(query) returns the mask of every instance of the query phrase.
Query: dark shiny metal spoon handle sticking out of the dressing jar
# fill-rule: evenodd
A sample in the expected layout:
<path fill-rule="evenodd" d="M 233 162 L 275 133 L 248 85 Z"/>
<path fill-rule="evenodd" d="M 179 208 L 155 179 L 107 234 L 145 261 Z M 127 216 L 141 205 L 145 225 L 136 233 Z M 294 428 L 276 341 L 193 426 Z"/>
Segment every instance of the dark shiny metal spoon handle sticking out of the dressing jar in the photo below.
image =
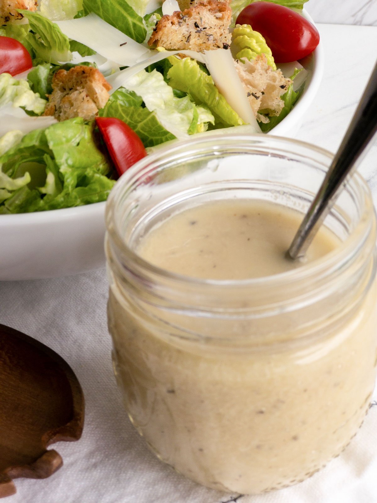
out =
<path fill-rule="evenodd" d="M 320 225 L 326 218 L 349 178 L 356 170 L 377 130 L 377 63 L 329 171 L 287 252 L 292 259 L 305 255 Z M 370 147 L 370 144 L 369 144 Z"/>

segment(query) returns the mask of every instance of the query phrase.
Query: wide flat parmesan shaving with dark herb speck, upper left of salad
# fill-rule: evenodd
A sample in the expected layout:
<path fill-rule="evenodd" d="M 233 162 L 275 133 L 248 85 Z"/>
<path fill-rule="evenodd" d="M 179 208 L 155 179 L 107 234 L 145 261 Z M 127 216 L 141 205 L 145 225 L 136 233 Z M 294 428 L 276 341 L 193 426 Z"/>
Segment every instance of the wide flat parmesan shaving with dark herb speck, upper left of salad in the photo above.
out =
<path fill-rule="evenodd" d="M 150 52 L 93 13 L 84 18 L 56 21 L 56 24 L 70 39 L 87 45 L 120 66 L 134 65 Z"/>

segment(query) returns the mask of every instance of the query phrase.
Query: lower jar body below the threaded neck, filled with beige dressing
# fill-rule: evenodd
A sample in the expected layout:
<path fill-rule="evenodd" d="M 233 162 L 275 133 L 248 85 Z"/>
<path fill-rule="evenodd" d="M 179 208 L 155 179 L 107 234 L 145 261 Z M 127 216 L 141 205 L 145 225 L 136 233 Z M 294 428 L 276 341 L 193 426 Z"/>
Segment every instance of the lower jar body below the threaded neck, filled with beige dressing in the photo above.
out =
<path fill-rule="evenodd" d="M 292 485 L 337 456 L 368 409 L 376 365 L 375 285 L 351 319 L 299 350 L 208 352 L 167 343 L 110 291 L 117 380 L 157 456 L 214 489 Z"/>

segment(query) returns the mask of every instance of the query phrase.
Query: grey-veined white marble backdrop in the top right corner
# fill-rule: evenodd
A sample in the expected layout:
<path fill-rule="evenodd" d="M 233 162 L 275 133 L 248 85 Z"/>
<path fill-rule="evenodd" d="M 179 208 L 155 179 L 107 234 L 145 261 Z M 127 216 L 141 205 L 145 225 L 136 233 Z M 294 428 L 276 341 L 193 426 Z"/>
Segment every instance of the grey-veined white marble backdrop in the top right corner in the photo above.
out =
<path fill-rule="evenodd" d="M 316 23 L 377 26 L 377 0 L 309 0 L 305 9 Z"/>

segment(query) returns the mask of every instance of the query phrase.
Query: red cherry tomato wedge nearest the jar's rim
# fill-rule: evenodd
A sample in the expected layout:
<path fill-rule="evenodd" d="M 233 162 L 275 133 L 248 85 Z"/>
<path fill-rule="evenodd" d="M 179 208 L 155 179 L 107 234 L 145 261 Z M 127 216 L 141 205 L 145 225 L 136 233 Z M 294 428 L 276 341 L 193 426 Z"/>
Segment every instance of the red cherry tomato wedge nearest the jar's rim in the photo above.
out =
<path fill-rule="evenodd" d="M 147 155 L 143 142 L 125 122 L 113 117 L 97 117 L 96 123 L 119 176 Z"/>

